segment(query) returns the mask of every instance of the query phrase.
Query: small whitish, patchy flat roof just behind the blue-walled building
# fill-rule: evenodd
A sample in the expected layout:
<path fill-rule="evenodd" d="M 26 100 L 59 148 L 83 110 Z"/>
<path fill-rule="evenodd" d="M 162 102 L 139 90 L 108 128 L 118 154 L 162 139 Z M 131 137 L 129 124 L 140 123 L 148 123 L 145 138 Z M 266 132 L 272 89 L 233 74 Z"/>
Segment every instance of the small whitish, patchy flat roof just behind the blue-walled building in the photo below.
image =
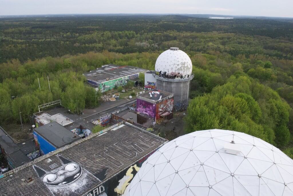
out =
<path fill-rule="evenodd" d="M 61 113 L 56 113 L 54 115 L 50 115 L 44 111 L 41 111 L 41 112 L 35 113 L 35 116 L 36 116 L 35 119 L 37 119 L 43 125 L 46 125 L 52 121 L 55 121 L 62 126 L 66 126 L 66 125 L 69 125 L 74 122 L 73 120 L 64 116 Z"/>

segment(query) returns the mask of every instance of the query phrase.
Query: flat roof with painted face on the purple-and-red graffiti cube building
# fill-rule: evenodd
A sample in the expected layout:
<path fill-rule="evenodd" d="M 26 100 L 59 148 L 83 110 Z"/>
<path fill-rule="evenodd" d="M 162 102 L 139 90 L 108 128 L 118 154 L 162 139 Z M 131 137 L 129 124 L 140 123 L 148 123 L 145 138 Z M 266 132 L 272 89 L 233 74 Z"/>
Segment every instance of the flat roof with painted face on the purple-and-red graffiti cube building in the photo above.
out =
<path fill-rule="evenodd" d="M 158 103 L 165 98 L 171 98 L 173 96 L 174 96 L 173 93 L 168 93 L 166 91 L 161 91 L 158 89 L 152 89 L 145 93 L 139 94 L 136 97 L 138 99 L 142 99 L 151 103 Z"/>

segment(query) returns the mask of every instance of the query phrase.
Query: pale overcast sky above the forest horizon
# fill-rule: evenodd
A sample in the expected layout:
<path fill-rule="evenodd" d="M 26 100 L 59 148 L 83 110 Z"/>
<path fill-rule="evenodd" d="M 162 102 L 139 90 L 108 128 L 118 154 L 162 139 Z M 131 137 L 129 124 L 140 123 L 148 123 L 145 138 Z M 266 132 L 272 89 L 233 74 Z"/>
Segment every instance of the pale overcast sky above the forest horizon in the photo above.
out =
<path fill-rule="evenodd" d="M 0 15 L 189 13 L 293 17 L 293 0 L 0 0 Z"/>

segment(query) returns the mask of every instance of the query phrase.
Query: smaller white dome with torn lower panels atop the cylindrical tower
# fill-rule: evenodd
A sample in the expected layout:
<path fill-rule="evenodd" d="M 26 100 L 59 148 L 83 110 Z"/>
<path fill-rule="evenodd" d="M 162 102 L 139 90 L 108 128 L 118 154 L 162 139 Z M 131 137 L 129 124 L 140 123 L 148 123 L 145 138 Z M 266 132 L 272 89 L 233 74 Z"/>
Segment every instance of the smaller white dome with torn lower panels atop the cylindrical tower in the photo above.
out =
<path fill-rule="evenodd" d="M 155 71 L 166 77 L 185 79 L 192 73 L 192 63 L 185 52 L 172 47 L 157 58 Z"/>

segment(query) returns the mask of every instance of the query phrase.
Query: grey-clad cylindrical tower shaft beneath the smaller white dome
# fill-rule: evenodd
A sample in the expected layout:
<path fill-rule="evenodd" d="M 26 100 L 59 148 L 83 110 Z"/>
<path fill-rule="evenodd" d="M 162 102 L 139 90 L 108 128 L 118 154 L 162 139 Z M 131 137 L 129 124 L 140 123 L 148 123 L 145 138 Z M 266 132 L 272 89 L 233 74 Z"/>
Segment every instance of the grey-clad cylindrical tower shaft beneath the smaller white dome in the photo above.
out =
<path fill-rule="evenodd" d="M 157 89 L 174 94 L 174 110 L 185 110 L 188 105 L 190 80 L 172 82 L 157 80 Z"/>

